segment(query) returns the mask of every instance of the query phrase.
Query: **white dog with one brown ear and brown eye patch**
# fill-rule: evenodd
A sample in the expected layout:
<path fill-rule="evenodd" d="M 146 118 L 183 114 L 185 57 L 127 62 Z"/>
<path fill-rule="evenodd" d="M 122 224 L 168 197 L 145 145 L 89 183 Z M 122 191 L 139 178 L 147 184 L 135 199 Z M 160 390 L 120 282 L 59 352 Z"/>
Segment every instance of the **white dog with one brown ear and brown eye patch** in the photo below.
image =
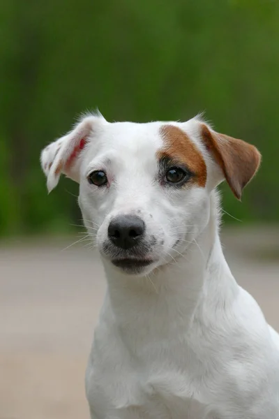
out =
<path fill-rule="evenodd" d="M 86 369 L 93 419 L 278 419 L 279 335 L 219 238 L 224 179 L 241 199 L 257 149 L 188 122 L 84 115 L 48 145 L 52 191 L 80 184 L 107 292 Z M 93 272 L 92 272 L 93 274 Z"/>

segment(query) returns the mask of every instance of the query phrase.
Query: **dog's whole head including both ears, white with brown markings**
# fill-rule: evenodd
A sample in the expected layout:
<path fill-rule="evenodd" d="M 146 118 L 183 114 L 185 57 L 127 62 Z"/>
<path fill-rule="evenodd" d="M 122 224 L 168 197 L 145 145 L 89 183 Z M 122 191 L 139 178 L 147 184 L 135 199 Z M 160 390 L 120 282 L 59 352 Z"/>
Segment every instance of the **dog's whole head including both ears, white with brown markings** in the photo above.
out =
<path fill-rule="evenodd" d="M 135 124 L 89 115 L 46 147 L 41 163 L 49 191 L 61 173 L 79 182 L 84 223 L 103 258 L 148 274 L 203 230 L 210 193 L 223 179 L 241 198 L 260 154 L 198 117 Z"/>

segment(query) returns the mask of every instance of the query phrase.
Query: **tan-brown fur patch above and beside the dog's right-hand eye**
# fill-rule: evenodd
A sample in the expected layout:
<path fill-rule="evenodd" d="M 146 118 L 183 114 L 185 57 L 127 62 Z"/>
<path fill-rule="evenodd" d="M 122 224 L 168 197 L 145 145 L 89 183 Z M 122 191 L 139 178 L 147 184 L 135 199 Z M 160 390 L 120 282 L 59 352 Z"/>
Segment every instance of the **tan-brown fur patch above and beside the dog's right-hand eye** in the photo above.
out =
<path fill-rule="evenodd" d="M 206 163 L 202 152 L 177 126 L 164 125 L 160 128 L 160 133 L 165 140 L 165 147 L 158 153 L 158 158 L 162 159 L 167 156 L 169 159 L 185 164 L 195 175 L 193 182 L 204 187 L 206 184 Z"/>

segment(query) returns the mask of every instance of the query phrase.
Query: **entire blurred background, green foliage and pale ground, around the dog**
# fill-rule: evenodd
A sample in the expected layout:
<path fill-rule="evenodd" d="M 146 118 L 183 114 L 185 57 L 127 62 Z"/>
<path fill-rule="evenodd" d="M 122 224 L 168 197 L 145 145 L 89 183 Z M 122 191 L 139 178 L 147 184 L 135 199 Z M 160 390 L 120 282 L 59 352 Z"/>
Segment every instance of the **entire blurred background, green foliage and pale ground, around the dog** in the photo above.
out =
<path fill-rule="evenodd" d="M 0 418 L 89 419 L 105 278 L 88 242 L 71 247 L 84 237 L 78 185 L 47 196 L 39 163 L 86 110 L 137 122 L 205 111 L 259 148 L 242 203 L 222 186 L 221 240 L 279 330 L 279 0 L 2 0 L 0 80 Z"/>

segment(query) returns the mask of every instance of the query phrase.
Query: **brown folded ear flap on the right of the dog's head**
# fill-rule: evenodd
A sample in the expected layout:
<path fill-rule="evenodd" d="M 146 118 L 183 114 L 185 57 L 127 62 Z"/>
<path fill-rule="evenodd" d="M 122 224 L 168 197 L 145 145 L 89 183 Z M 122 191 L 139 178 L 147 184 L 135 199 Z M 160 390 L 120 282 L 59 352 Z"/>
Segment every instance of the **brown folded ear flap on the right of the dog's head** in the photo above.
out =
<path fill-rule="evenodd" d="M 223 170 L 234 196 L 240 200 L 244 186 L 259 168 L 261 154 L 248 142 L 211 131 L 205 124 L 202 124 L 202 140 Z"/>

